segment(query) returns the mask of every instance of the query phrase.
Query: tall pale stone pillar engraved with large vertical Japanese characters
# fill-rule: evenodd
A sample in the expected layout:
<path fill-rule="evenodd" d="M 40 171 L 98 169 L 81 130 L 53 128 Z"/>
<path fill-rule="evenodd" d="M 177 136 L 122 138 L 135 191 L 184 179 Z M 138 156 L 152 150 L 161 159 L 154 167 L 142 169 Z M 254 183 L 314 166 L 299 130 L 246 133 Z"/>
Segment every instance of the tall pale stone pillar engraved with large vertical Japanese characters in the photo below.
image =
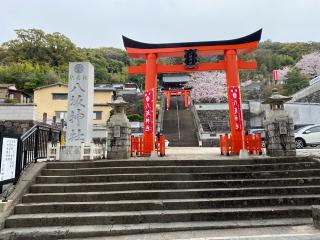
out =
<path fill-rule="evenodd" d="M 68 117 L 62 160 L 80 160 L 81 143 L 92 142 L 94 68 L 89 62 L 69 64 Z"/>

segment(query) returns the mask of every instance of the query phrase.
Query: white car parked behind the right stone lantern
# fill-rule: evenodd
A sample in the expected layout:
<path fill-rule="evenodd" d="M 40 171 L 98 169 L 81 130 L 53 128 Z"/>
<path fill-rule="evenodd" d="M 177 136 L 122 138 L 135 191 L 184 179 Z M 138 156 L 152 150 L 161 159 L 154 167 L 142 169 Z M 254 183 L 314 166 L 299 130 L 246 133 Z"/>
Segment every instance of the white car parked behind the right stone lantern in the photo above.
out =
<path fill-rule="evenodd" d="M 296 148 L 320 145 L 320 125 L 299 128 L 294 133 Z"/>

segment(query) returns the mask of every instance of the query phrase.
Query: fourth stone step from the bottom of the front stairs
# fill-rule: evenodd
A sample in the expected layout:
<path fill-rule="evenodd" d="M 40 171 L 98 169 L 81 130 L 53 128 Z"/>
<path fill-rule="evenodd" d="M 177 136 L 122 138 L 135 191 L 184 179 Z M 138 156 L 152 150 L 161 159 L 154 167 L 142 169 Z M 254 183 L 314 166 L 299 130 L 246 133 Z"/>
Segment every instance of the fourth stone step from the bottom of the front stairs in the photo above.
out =
<path fill-rule="evenodd" d="M 23 203 L 39 202 L 90 202 L 142 199 L 190 199 L 190 198 L 228 198 L 242 196 L 266 196 L 279 194 L 303 195 L 320 194 L 320 186 L 277 186 L 242 188 L 204 188 L 204 189 L 166 189 L 131 190 L 114 192 L 77 193 L 29 193 L 23 196 Z M 280 197 L 280 196 L 279 196 Z"/>

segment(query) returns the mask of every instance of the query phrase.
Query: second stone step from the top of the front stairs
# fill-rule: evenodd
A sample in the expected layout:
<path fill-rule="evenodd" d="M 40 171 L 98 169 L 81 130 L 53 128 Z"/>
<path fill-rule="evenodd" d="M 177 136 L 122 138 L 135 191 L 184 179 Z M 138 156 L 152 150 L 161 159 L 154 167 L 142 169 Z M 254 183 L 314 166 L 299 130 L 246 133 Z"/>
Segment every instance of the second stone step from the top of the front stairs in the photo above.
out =
<path fill-rule="evenodd" d="M 101 167 L 78 169 L 45 169 L 44 176 L 71 176 L 116 173 L 201 173 L 226 171 L 267 171 L 267 170 L 294 170 L 304 168 L 320 168 L 318 162 L 298 162 L 279 164 L 252 164 L 252 165 L 222 165 L 222 166 L 146 166 L 146 167 Z"/>

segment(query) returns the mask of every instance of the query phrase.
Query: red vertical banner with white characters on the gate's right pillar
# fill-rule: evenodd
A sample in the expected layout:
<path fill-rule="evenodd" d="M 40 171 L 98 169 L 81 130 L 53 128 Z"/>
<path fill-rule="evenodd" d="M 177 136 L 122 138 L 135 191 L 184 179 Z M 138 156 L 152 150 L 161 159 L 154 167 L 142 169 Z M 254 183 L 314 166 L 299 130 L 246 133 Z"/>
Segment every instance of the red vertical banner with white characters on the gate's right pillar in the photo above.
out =
<path fill-rule="evenodd" d="M 240 88 L 229 87 L 229 101 L 232 104 L 232 111 L 234 114 L 234 121 L 236 123 L 236 130 L 242 131 L 242 111 L 241 111 L 241 99 L 240 99 Z"/>

